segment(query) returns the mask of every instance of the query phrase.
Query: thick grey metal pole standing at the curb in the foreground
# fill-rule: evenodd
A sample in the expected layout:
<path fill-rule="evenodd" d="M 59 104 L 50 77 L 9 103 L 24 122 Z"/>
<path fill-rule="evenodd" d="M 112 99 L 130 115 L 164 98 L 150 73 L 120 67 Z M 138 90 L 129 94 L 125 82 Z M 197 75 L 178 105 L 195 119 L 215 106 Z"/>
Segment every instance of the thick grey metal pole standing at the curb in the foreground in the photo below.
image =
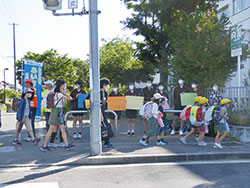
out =
<path fill-rule="evenodd" d="M 89 54 L 90 54 L 90 155 L 102 153 L 100 121 L 100 68 L 98 52 L 97 0 L 89 0 Z"/>

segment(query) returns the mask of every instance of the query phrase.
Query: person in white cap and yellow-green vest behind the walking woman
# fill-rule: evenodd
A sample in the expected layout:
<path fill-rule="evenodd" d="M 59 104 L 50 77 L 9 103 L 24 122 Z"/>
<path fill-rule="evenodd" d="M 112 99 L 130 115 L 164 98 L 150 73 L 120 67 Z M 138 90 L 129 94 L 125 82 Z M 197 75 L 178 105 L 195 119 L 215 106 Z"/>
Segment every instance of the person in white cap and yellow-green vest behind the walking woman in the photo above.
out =
<path fill-rule="evenodd" d="M 47 108 L 47 96 L 49 93 L 54 91 L 54 89 L 53 89 L 54 83 L 51 80 L 48 80 L 48 81 L 44 82 L 44 85 L 45 85 L 45 90 L 43 91 L 42 108 L 43 108 L 43 112 L 45 115 L 46 129 L 48 131 L 49 130 L 49 117 L 50 117 L 51 109 Z"/>

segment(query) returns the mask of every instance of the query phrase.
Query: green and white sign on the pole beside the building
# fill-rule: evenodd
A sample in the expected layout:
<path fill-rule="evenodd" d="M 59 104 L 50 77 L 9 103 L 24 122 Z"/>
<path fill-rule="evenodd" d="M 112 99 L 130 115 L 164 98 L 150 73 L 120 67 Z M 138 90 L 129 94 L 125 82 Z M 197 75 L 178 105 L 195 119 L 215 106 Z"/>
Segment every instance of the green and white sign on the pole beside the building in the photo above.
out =
<path fill-rule="evenodd" d="M 231 30 L 231 57 L 242 55 L 242 31 L 239 27 Z"/>

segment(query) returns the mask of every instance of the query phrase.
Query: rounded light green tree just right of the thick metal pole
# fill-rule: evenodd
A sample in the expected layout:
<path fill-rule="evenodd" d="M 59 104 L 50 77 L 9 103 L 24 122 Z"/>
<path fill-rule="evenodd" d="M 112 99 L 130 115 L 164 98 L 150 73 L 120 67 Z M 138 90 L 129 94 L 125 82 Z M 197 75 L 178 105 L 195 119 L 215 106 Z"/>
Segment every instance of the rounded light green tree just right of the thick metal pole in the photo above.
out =
<path fill-rule="evenodd" d="M 126 85 L 150 78 L 154 67 L 138 60 L 133 45 L 128 39 L 115 38 L 110 42 L 105 41 L 100 49 L 101 77 Z"/>

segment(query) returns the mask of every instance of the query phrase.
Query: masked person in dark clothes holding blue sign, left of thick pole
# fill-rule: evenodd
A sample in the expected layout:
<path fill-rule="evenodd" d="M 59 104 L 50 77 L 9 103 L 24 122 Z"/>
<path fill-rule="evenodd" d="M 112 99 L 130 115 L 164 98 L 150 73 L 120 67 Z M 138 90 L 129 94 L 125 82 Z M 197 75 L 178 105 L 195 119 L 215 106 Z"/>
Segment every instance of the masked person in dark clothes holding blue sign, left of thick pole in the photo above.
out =
<path fill-rule="evenodd" d="M 82 89 L 81 80 L 77 80 L 75 82 L 75 89 L 73 89 L 70 93 L 70 96 L 72 97 L 72 101 L 70 101 L 71 110 L 83 110 L 83 108 L 78 108 L 78 97 L 80 94 L 86 94 L 86 92 Z M 77 119 L 79 121 L 78 133 L 76 131 Z M 73 138 L 74 139 L 82 138 L 82 119 L 83 119 L 83 113 L 73 114 L 73 131 L 74 131 Z"/>

